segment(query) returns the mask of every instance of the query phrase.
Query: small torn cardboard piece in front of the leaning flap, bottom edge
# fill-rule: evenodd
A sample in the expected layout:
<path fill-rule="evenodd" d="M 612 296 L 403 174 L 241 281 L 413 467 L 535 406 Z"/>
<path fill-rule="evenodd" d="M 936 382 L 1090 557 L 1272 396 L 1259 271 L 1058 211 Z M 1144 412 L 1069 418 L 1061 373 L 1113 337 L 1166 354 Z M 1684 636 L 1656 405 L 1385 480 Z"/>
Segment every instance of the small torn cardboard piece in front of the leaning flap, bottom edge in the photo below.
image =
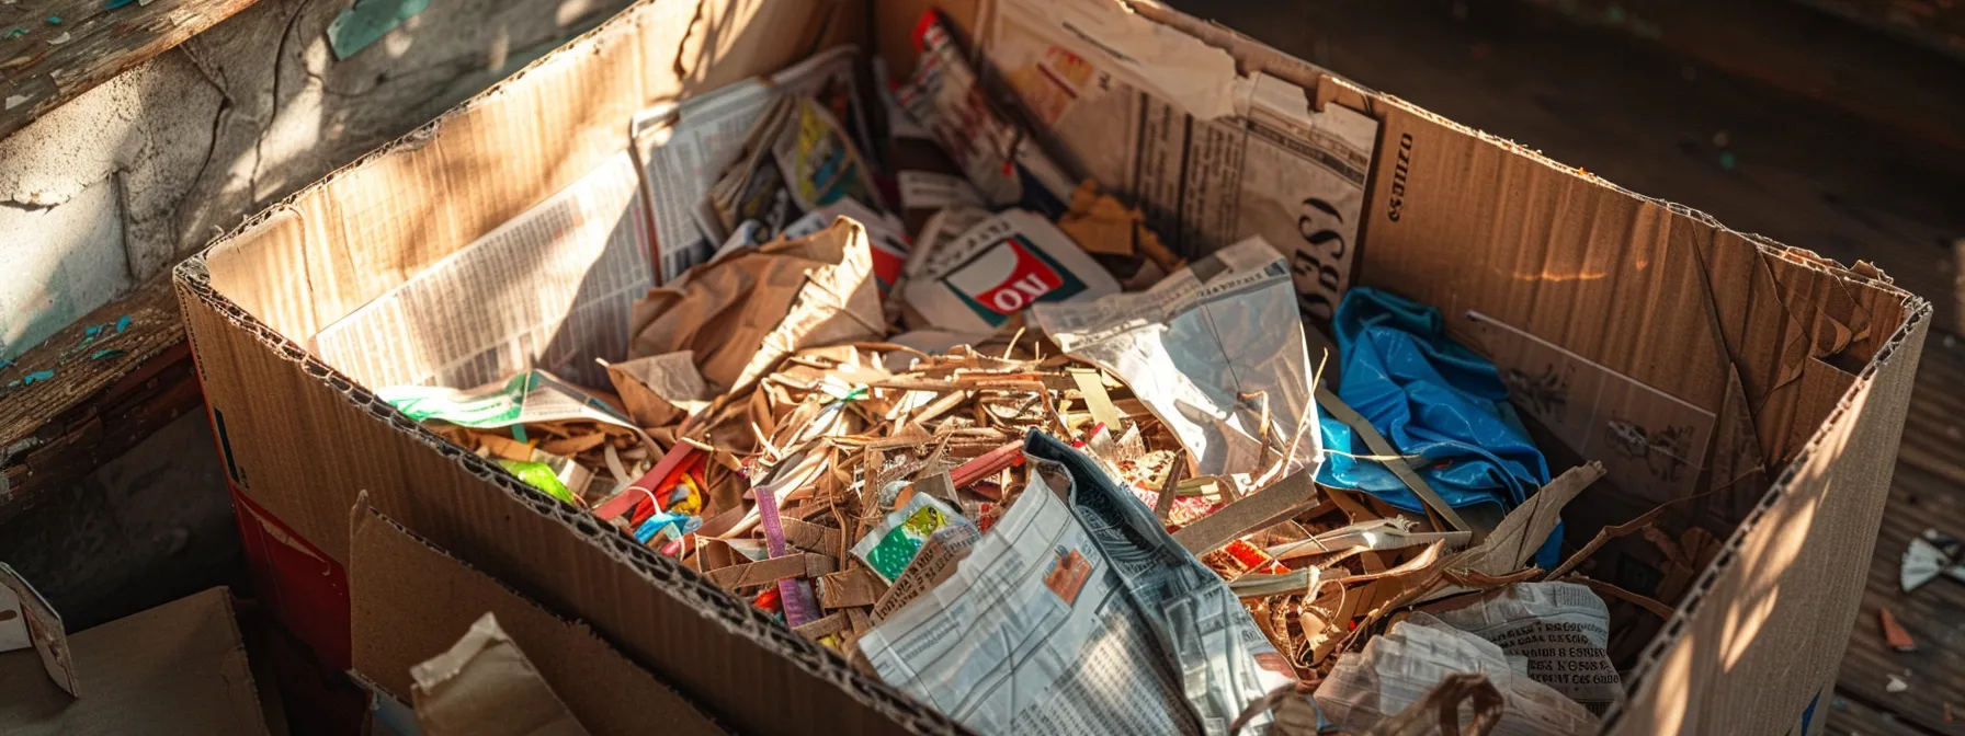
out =
<path fill-rule="evenodd" d="M 426 736 L 588 736 L 495 614 L 409 675 Z"/>

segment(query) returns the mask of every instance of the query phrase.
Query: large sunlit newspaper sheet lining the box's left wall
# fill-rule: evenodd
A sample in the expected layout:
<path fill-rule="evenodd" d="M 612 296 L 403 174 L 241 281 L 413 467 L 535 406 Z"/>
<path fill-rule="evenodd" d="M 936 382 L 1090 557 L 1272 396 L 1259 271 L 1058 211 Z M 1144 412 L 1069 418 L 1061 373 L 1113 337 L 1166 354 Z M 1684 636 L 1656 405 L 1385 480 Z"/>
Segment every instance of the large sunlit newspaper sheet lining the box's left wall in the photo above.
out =
<path fill-rule="evenodd" d="M 477 387 L 546 369 L 605 387 L 654 283 L 627 151 L 322 328 L 312 351 L 369 387 Z"/>

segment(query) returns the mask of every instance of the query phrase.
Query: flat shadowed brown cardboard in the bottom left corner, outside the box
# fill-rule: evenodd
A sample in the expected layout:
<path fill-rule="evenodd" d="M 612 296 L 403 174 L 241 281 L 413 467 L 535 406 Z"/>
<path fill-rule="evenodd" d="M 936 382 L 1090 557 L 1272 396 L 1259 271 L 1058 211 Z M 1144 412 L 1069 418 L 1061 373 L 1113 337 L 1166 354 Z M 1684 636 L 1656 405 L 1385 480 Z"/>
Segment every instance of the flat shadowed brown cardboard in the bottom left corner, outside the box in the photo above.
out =
<path fill-rule="evenodd" d="M 33 648 L 0 654 L 0 732 L 269 734 L 224 587 L 75 634 L 67 650 L 75 695 Z"/>

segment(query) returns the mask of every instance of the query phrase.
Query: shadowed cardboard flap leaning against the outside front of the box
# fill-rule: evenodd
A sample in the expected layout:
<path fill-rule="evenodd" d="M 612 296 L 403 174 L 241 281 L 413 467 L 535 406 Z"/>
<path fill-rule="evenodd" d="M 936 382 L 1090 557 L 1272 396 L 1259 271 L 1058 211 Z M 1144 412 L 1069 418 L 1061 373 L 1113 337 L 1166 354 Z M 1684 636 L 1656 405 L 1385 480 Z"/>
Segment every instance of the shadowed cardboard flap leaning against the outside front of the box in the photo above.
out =
<path fill-rule="evenodd" d="M 354 512 L 350 550 L 356 671 L 399 701 L 411 695 L 411 667 L 448 652 L 419 648 L 456 640 L 489 612 L 595 734 L 637 734 L 650 724 L 674 734 L 725 732 L 586 624 L 560 618 L 365 504 Z"/>

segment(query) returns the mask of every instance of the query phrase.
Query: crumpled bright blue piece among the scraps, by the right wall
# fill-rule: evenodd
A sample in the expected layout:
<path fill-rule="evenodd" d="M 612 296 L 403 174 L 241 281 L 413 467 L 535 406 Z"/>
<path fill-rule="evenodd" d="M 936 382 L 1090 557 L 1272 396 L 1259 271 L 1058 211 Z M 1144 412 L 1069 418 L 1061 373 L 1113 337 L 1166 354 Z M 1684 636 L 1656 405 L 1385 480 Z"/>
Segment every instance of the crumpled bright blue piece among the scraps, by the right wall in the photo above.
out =
<path fill-rule="evenodd" d="M 1448 506 L 1507 512 L 1548 483 L 1548 461 L 1507 404 L 1507 385 L 1488 359 L 1446 338 L 1440 310 L 1377 289 L 1352 289 L 1338 302 L 1338 398 L 1372 422 L 1417 467 Z M 1372 455 L 1344 422 L 1320 416 L 1324 447 Z M 1376 461 L 1330 453 L 1317 483 L 1370 493 L 1425 512 L 1397 475 Z M 1537 553 L 1556 563 L 1562 528 Z"/>

